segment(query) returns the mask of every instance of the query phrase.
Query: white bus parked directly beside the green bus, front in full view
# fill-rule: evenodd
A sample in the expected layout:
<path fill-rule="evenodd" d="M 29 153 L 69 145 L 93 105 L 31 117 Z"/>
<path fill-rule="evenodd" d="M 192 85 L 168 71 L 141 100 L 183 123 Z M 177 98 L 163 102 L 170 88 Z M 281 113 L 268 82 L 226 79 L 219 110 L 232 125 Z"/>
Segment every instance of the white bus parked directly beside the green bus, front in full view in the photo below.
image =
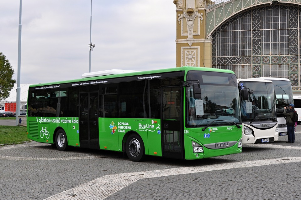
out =
<path fill-rule="evenodd" d="M 278 141 L 273 82 L 248 78 L 237 83 L 248 91 L 247 100 L 240 96 L 242 145 Z"/>

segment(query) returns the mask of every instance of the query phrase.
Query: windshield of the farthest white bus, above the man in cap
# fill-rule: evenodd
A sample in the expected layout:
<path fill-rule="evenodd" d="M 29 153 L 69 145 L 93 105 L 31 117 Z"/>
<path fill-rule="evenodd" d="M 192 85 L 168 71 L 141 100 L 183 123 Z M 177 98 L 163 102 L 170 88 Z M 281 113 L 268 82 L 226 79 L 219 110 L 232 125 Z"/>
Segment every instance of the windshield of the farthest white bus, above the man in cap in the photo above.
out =
<path fill-rule="evenodd" d="M 283 113 L 283 108 L 293 103 L 292 85 L 289 81 L 272 80 L 276 93 L 277 113 Z"/>

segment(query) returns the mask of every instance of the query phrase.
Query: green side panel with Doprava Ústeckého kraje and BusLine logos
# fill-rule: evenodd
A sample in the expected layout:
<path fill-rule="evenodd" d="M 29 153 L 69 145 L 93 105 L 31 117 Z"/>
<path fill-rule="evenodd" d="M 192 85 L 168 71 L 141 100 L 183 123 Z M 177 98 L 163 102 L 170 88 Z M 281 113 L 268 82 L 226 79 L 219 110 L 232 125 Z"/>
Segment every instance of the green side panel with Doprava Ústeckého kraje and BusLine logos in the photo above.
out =
<path fill-rule="evenodd" d="M 146 155 L 162 156 L 160 119 L 98 118 L 98 123 L 100 149 L 122 151 L 128 134 L 137 133 Z"/>

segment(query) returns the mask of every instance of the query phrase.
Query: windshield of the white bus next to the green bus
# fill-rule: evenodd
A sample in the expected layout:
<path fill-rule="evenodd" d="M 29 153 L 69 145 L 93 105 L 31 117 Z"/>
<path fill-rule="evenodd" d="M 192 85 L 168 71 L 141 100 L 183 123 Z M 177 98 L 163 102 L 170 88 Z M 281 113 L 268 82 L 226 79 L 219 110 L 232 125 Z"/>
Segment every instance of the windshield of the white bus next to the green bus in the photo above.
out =
<path fill-rule="evenodd" d="M 266 121 L 276 118 L 273 83 L 240 81 L 249 94 L 248 100 L 241 100 L 242 122 Z"/>

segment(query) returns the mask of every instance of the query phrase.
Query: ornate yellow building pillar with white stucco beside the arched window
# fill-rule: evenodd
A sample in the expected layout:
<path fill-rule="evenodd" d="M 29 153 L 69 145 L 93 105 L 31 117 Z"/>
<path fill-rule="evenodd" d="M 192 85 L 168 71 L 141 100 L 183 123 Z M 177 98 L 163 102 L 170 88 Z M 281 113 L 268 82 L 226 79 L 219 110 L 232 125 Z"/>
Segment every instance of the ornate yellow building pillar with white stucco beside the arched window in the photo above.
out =
<path fill-rule="evenodd" d="M 206 38 L 206 1 L 174 0 L 174 3 L 177 8 L 176 67 L 211 68 L 212 41 Z"/>

